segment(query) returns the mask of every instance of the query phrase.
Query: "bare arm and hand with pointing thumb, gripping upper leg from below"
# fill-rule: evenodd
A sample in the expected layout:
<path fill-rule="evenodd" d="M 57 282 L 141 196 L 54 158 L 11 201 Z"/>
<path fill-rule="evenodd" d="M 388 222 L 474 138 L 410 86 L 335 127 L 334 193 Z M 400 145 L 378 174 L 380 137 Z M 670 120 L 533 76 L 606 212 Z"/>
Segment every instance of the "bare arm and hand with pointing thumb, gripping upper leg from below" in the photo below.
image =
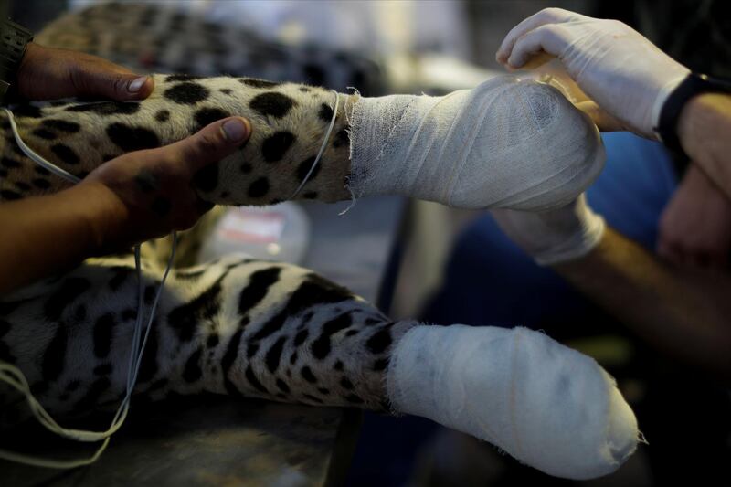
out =
<path fill-rule="evenodd" d="M 124 154 L 65 191 L 0 205 L 0 293 L 82 259 L 190 228 L 210 205 L 196 171 L 237 150 L 250 133 L 238 117 L 159 149 Z"/>

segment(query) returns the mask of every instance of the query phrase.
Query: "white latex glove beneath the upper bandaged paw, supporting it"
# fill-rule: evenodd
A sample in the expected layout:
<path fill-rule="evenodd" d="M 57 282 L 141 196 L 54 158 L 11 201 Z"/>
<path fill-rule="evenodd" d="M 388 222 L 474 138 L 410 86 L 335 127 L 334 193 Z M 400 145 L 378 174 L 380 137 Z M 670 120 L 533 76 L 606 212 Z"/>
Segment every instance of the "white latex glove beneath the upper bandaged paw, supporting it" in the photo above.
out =
<path fill-rule="evenodd" d="M 584 195 L 567 206 L 544 212 L 493 210 L 505 235 L 539 265 L 578 259 L 594 249 L 604 236 L 604 218 L 587 205 Z"/>

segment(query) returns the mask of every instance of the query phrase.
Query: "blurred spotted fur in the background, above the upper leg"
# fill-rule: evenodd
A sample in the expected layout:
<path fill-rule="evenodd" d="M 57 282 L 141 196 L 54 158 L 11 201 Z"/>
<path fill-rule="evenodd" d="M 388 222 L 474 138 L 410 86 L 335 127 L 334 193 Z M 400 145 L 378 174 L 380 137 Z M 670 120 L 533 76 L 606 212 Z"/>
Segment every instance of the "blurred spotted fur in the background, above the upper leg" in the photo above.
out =
<path fill-rule="evenodd" d="M 236 22 L 211 23 L 160 5 L 94 5 L 58 18 L 36 41 L 95 54 L 139 72 L 245 74 L 339 91 L 355 87 L 365 96 L 387 93 L 383 61 L 377 57 L 276 42 Z M 270 81 L 253 83 L 270 88 Z"/>

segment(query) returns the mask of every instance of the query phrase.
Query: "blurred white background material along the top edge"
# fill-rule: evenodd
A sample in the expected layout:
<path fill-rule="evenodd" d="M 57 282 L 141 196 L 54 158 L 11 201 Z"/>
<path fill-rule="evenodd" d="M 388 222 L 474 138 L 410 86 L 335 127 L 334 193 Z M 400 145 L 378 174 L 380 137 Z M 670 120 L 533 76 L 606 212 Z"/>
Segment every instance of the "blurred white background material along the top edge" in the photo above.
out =
<path fill-rule="evenodd" d="M 101 0 L 106 1 L 106 0 Z M 118 0 L 119 1 L 119 0 Z M 122 0 L 140 3 L 140 0 Z M 73 8 L 100 0 L 70 0 Z M 322 0 L 147 0 L 172 6 L 210 22 L 246 26 L 271 40 L 367 54 L 438 51 L 467 58 L 464 8 L 461 2 L 323 2 Z"/>

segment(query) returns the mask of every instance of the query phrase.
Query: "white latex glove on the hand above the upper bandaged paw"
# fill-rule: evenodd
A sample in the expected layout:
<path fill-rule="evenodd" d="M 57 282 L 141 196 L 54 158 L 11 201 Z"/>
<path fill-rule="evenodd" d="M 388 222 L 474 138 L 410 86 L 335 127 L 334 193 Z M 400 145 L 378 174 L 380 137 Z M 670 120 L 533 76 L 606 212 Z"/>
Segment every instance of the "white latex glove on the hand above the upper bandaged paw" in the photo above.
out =
<path fill-rule="evenodd" d="M 514 26 L 496 55 L 509 69 L 532 69 L 553 57 L 601 109 L 651 138 L 662 104 L 690 72 L 618 20 L 561 8 L 546 8 Z"/>

